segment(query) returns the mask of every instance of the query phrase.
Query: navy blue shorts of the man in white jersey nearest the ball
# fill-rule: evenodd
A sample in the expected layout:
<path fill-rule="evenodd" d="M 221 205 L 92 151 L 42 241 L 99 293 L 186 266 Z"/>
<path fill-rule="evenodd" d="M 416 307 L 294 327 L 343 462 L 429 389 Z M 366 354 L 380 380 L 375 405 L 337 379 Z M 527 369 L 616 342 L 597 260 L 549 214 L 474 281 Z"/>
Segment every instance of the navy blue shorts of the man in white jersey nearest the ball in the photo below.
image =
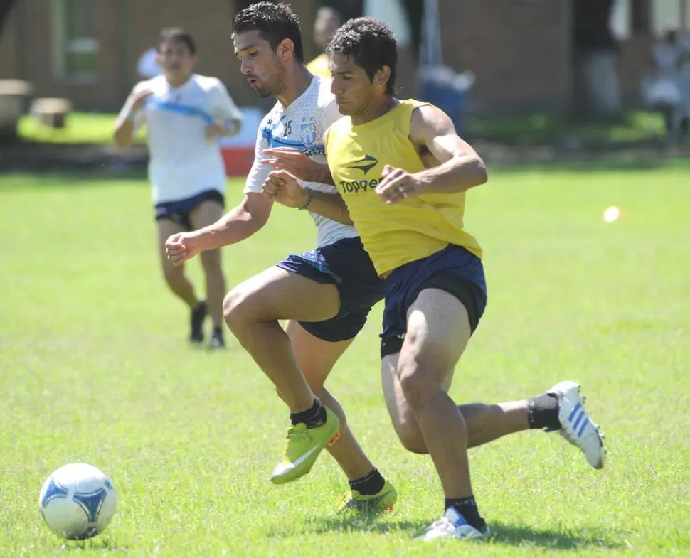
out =
<path fill-rule="evenodd" d="M 354 338 L 366 323 L 372 306 L 383 299 L 383 279 L 366 253 L 359 237 L 344 238 L 331 245 L 301 254 L 290 254 L 277 267 L 322 284 L 334 284 L 340 294 L 337 316 L 299 324 L 324 341 Z"/>

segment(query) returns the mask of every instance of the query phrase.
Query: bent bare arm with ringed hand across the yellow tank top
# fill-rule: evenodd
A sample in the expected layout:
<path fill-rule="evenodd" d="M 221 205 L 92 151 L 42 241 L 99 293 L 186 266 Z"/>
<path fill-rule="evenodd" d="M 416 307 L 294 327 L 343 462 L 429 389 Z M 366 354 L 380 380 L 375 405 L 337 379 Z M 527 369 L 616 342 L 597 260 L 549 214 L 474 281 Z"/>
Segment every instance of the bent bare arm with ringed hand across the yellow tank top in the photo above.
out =
<path fill-rule="evenodd" d="M 383 168 L 383 180 L 376 193 L 386 203 L 397 203 L 420 194 L 465 192 L 487 181 L 484 161 L 467 141 L 455 132 L 451 119 L 440 109 L 425 105 L 413 113 L 410 140 L 428 168 L 408 173 L 400 168 Z"/>

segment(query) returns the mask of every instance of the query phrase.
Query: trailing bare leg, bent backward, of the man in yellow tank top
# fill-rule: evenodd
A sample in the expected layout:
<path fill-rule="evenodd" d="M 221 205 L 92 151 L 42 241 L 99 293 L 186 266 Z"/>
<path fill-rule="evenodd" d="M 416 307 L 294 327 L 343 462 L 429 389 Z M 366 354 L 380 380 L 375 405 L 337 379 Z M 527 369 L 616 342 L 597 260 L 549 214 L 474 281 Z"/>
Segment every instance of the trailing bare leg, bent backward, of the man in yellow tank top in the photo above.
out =
<path fill-rule="evenodd" d="M 428 454 L 422 431 L 417 419 L 405 399 L 403 388 L 396 374 L 398 355 L 389 355 L 383 359 L 381 383 L 386 407 L 393 421 L 393 428 L 405 449 L 416 454 Z M 450 383 L 450 382 L 445 382 Z M 449 386 L 445 385 L 445 389 Z M 467 425 L 467 447 L 474 448 L 490 441 L 527 430 L 527 402 L 511 401 L 496 404 L 466 403 L 458 405 Z"/>

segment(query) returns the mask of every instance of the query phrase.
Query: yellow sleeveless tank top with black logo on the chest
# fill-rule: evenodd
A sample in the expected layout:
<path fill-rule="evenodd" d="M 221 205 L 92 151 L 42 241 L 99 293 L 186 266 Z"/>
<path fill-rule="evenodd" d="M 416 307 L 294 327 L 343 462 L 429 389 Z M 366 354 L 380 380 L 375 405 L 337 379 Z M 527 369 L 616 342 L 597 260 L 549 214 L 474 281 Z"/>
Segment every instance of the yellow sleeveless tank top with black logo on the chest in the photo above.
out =
<path fill-rule="evenodd" d="M 410 141 L 412 114 L 424 104 L 408 99 L 358 126 L 344 117 L 327 132 L 331 175 L 381 276 L 449 244 L 482 257 L 479 243 L 462 227 L 465 192 L 419 195 L 394 205 L 386 205 L 374 192 L 386 164 L 409 173 L 425 169 Z"/>

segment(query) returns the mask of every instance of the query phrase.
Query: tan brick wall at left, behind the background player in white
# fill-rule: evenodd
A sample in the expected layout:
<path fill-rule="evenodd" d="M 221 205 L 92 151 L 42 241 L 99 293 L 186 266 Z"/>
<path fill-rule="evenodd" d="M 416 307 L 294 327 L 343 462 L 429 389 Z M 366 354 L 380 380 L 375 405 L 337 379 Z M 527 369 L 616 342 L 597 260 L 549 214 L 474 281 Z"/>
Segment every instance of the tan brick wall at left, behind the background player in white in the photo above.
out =
<path fill-rule="evenodd" d="M 55 75 L 52 60 L 50 0 L 22 0 L 24 13 L 15 9 L 0 42 L 0 78 L 18 77 L 18 16 L 29 24 L 31 42 L 26 53 L 23 77 L 33 82 L 38 97 L 68 97 L 84 110 L 114 111 L 120 108 L 127 92 L 141 79 L 137 61 L 145 50 L 155 46 L 161 28 L 181 26 L 198 43 L 198 73 L 219 77 L 238 104 L 256 104 L 255 92 L 239 72 L 230 38 L 234 15 L 231 0 L 203 0 L 203 9 L 191 9 L 189 0 L 108 0 L 97 3 L 97 36 L 100 40 L 98 77 L 92 82 L 75 82 Z M 313 0 L 293 0 L 302 18 L 305 33 L 313 26 Z M 311 41 L 305 44 L 307 58 L 314 55 Z"/>

